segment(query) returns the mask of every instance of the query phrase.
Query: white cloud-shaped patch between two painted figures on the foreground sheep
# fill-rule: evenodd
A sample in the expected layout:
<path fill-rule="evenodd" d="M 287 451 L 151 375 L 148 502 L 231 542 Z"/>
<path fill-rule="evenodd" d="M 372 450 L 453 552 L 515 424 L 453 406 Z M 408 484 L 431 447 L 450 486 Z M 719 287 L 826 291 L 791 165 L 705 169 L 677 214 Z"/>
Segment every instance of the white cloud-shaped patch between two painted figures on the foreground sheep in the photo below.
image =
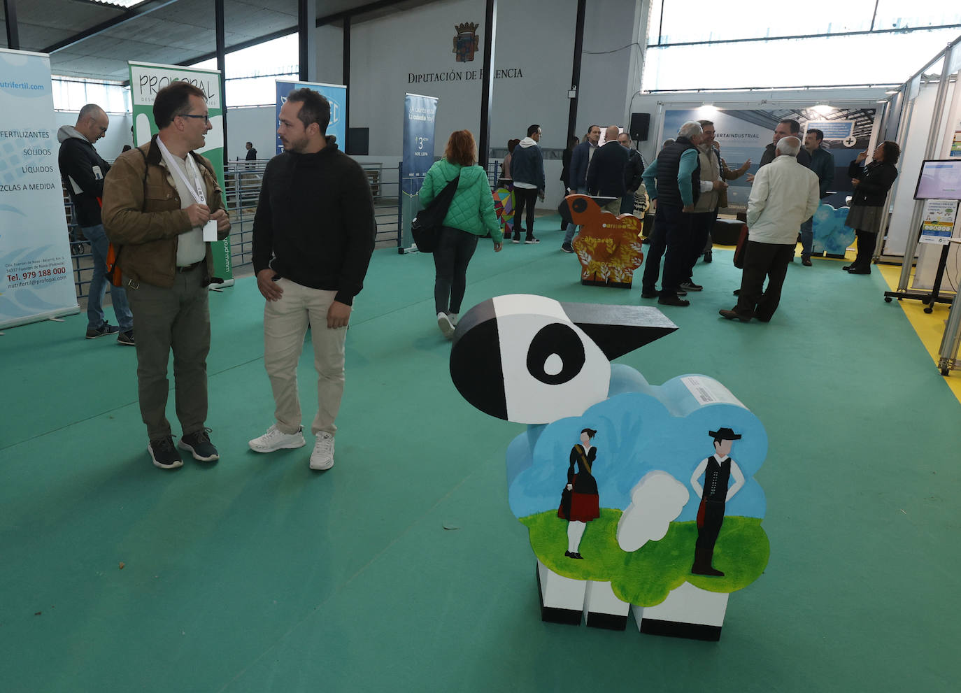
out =
<path fill-rule="evenodd" d="M 632 552 L 663 539 L 689 498 L 687 487 L 667 472 L 648 472 L 630 490 L 630 505 L 617 523 L 617 543 Z"/>

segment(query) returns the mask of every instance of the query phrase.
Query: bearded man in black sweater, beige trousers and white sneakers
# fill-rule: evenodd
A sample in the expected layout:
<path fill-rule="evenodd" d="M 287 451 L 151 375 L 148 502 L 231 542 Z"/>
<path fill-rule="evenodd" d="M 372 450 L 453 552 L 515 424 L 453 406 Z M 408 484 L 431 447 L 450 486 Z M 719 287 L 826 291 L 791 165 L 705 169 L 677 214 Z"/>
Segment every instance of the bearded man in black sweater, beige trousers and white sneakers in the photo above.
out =
<path fill-rule="evenodd" d="M 317 369 L 310 468 L 319 470 L 333 466 L 347 324 L 377 233 L 367 175 L 327 136 L 330 120 L 331 106 L 316 91 L 287 95 L 277 130 L 284 151 L 267 164 L 254 218 L 254 271 L 267 300 L 263 364 L 276 423 L 250 447 L 271 453 L 305 445 L 297 361 L 309 324 Z"/>

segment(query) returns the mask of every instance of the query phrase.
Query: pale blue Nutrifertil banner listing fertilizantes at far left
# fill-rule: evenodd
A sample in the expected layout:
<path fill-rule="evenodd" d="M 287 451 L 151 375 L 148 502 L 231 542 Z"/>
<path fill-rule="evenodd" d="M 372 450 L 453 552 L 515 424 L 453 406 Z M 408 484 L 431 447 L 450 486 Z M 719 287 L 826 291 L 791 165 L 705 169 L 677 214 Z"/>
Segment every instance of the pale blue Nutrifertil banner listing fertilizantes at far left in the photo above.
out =
<path fill-rule="evenodd" d="M 0 49 L 0 328 L 75 313 L 50 57 Z"/>

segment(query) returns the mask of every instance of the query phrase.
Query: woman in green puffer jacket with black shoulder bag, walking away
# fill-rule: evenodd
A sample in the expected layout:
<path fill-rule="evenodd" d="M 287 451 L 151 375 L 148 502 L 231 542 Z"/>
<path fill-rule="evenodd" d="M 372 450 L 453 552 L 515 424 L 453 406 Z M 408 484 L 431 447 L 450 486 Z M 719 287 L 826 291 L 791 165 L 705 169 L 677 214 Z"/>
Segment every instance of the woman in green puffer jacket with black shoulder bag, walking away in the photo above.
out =
<path fill-rule="evenodd" d="M 420 190 L 421 206 L 427 207 L 444 186 L 460 176 L 433 251 L 436 271 L 433 302 L 437 310 L 437 326 L 448 339 L 454 336 L 457 313 L 467 288 L 467 264 L 477 249 L 478 238 L 490 235 L 495 253 L 499 253 L 504 245 L 487 172 L 477 165 L 477 151 L 469 130 L 452 133 L 447 140 L 444 158 L 431 166 Z"/>

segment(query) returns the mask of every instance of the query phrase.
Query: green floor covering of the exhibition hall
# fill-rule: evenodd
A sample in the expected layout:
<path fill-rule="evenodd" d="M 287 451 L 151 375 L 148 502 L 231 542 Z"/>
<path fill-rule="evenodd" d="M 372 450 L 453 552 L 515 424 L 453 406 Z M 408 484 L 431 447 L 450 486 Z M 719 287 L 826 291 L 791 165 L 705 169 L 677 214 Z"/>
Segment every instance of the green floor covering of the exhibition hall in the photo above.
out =
<path fill-rule="evenodd" d="M 639 282 L 579 285 L 556 229 L 500 254 L 483 241 L 465 306 L 640 302 Z M 717 378 L 767 429 L 771 560 L 719 643 L 540 621 L 506 504 L 523 427 L 451 384 L 431 257 L 378 251 L 324 474 L 309 448 L 247 448 L 273 411 L 252 278 L 210 295 L 210 467 L 151 465 L 134 350 L 85 341 L 86 316 L 0 336 L 0 690 L 954 689 L 958 402 L 878 274 L 796 262 L 774 320 L 744 325 L 717 316 L 739 273 L 714 257 L 693 305 L 665 309 L 680 330 L 621 361 L 654 384 Z M 309 422 L 311 359 L 300 376 Z"/>

